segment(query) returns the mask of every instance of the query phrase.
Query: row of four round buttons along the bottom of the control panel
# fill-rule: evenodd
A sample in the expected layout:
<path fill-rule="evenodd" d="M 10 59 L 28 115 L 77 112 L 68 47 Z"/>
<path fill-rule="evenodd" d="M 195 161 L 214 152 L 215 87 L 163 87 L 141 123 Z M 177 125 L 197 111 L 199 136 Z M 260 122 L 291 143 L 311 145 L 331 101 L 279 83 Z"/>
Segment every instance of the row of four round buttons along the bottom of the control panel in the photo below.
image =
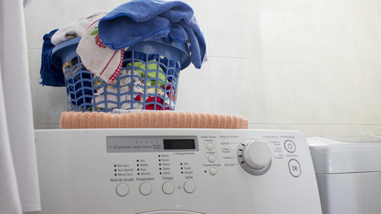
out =
<path fill-rule="evenodd" d="M 212 174 L 212 172 L 211 172 Z M 179 186 L 180 188 L 180 186 Z M 174 192 L 175 186 L 172 182 L 166 182 L 162 186 L 162 190 L 166 194 L 171 194 Z M 196 184 L 193 181 L 187 181 L 184 184 L 184 190 L 187 193 L 193 193 L 196 190 Z M 139 191 L 142 195 L 149 195 L 152 192 L 152 186 L 148 183 L 142 183 L 139 187 Z M 126 196 L 129 192 L 127 184 L 119 184 L 116 187 L 116 193 L 119 196 Z"/>

